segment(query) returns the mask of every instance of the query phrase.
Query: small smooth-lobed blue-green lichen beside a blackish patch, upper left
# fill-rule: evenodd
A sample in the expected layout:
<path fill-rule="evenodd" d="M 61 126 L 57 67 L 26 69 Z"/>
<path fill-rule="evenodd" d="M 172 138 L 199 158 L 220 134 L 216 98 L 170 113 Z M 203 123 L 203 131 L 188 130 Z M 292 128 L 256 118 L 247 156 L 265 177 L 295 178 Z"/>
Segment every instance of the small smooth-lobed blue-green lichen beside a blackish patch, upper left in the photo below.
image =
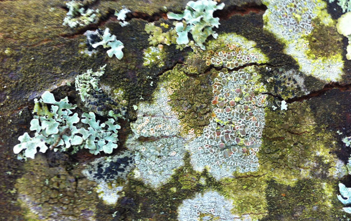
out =
<path fill-rule="evenodd" d="M 104 35 L 101 37 L 101 42 L 92 44 L 94 48 L 97 48 L 98 46 L 102 45 L 104 48 L 111 47 L 107 51 L 107 54 L 109 57 L 116 56 L 118 60 L 122 59 L 123 57 L 123 51 L 122 49 L 124 48 L 123 43 L 116 40 L 115 35 L 110 34 L 110 29 L 106 28 Z"/>

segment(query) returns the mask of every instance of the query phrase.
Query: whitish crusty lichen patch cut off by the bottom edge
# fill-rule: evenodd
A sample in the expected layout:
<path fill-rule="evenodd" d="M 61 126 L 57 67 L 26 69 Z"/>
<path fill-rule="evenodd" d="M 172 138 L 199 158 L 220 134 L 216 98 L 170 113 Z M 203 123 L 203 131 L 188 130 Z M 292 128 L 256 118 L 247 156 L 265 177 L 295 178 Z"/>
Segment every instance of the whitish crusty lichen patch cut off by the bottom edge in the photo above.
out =
<path fill-rule="evenodd" d="M 203 194 L 196 194 L 194 199 L 184 200 L 178 208 L 178 221 L 251 221 L 248 215 L 244 220 L 233 215 L 232 209 L 232 200 L 210 190 Z"/>

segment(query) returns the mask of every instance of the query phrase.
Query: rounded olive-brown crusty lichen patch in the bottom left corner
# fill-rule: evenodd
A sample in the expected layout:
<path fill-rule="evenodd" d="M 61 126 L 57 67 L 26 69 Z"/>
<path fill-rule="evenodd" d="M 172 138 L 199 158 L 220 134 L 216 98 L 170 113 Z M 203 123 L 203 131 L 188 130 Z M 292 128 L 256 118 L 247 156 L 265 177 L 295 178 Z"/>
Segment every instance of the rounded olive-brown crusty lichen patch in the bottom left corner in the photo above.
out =
<path fill-rule="evenodd" d="M 62 166 L 49 166 L 47 159 L 38 156 L 25 164 L 25 170 L 27 173 L 17 179 L 15 186 L 28 218 L 95 220 L 98 197 L 92 190 L 96 183 L 82 177 L 81 168 L 68 171 Z"/>

